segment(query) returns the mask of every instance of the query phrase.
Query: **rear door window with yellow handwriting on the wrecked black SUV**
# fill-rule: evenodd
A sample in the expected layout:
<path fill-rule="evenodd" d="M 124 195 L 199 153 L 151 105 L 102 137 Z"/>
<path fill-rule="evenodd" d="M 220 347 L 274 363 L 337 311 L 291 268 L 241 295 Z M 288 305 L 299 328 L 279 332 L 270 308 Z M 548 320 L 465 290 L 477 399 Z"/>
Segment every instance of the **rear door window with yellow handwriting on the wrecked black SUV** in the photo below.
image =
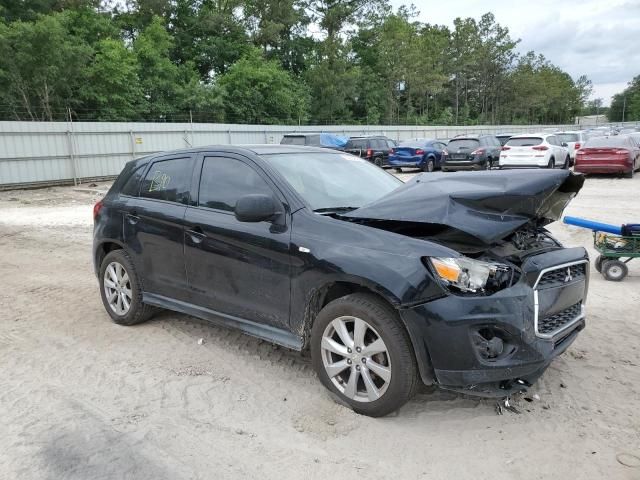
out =
<path fill-rule="evenodd" d="M 193 164 L 193 157 L 154 162 L 142 181 L 140 196 L 188 205 Z"/>

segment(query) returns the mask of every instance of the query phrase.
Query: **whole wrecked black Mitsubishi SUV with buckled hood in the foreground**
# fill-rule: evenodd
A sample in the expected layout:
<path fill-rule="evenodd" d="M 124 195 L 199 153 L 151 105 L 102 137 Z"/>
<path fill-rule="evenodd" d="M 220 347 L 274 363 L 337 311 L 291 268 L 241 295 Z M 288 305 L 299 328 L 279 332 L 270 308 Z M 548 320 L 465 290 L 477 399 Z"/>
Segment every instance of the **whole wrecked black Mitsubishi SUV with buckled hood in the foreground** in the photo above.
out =
<path fill-rule="evenodd" d="M 585 325 L 587 253 L 543 227 L 582 181 L 402 183 L 313 147 L 163 153 L 127 163 L 95 205 L 95 273 L 116 323 L 160 307 L 310 350 L 320 381 L 363 414 L 397 409 L 419 379 L 504 397 Z"/>

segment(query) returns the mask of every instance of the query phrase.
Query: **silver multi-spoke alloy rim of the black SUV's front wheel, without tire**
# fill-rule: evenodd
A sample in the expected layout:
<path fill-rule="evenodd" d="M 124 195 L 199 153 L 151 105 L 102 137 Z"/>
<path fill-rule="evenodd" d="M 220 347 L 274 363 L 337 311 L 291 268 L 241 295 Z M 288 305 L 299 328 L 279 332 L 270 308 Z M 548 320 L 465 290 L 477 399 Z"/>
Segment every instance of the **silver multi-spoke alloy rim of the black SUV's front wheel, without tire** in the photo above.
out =
<path fill-rule="evenodd" d="M 345 397 L 373 402 L 391 381 L 391 358 L 382 337 L 358 317 L 330 322 L 322 335 L 322 363 L 331 382 Z"/>

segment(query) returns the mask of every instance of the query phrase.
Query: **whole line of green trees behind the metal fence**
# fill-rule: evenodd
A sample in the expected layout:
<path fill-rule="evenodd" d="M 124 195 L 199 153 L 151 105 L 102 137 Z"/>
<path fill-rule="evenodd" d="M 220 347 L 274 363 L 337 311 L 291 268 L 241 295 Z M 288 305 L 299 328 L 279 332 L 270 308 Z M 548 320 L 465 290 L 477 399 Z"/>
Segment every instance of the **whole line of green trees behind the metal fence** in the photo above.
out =
<path fill-rule="evenodd" d="M 571 123 L 573 79 L 491 13 L 388 0 L 0 0 L 0 119 Z"/>

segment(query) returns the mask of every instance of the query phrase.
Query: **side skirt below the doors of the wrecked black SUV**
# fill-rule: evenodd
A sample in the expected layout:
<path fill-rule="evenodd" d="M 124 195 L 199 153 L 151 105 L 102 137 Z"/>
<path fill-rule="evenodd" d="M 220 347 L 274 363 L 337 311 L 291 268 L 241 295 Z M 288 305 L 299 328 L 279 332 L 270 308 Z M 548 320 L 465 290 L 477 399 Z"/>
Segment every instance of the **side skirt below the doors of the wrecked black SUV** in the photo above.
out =
<path fill-rule="evenodd" d="M 281 328 L 252 322 L 251 320 L 216 312 L 215 310 L 209 310 L 208 308 L 199 307 L 187 302 L 181 302 L 180 300 L 174 300 L 155 293 L 144 292 L 142 294 L 142 301 L 155 307 L 186 313 L 187 315 L 207 320 L 216 325 L 235 328 L 253 337 L 261 338 L 292 350 L 302 350 L 302 337 L 294 335 L 293 333 Z"/>

